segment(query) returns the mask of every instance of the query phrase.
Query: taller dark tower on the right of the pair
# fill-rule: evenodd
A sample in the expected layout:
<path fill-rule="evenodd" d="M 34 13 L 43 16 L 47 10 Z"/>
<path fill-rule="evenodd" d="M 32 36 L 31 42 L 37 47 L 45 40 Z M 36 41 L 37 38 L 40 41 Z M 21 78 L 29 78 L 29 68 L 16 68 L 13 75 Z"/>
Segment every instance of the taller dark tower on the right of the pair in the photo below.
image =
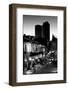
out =
<path fill-rule="evenodd" d="M 50 40 L 50 24 L 49 24 L 49 22 L 44 22 L 42 25 L 42 38 L 44 38 L 45 41 Z"/>

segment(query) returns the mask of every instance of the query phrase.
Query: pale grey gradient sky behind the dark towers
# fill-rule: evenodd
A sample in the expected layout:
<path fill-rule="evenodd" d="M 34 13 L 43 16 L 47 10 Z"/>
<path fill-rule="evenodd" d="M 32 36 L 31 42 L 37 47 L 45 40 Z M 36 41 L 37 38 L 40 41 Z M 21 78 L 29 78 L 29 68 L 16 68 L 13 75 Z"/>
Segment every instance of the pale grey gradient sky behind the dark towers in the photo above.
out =
<path fill-rule="evenodd" d="M 35 36 L 35 25 L 42 25 L 46 21 L 50 24 L 50 40 L 52 35 L 57 37 L 57 16 L 23 15 L 24 34 Z"/>

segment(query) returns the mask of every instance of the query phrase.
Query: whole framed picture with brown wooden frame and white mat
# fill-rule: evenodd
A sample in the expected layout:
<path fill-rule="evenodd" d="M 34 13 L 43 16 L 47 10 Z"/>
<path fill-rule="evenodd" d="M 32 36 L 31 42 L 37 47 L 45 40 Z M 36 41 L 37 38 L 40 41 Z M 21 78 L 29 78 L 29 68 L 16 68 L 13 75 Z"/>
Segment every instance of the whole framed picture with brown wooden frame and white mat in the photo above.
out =
<path fill-rule="evenodd" d="M 9 8 L 9 84 L 66 82 L 66 7 Z"/>

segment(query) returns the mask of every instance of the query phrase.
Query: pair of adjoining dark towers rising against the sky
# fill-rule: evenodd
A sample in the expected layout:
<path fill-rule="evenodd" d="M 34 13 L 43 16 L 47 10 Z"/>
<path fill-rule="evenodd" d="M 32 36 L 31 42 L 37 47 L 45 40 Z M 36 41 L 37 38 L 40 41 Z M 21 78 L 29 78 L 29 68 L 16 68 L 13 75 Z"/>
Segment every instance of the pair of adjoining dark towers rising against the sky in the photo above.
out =
<path fill-rule="evenodd" d="M 43 25 L 36 25 L 35 36 L 42 38 L 46 43 L 50 41 L 50 24 L 44 22 Z"/>

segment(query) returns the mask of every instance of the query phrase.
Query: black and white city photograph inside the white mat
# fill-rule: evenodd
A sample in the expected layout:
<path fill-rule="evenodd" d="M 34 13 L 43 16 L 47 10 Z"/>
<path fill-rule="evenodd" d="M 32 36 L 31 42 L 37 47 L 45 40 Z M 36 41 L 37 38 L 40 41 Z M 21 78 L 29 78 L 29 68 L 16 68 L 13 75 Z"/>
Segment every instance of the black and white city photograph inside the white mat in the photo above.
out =
<path fill-rule="evenodd" d="M 23 74 L 57 73 L 57 16 L 23 15 Z"/>

